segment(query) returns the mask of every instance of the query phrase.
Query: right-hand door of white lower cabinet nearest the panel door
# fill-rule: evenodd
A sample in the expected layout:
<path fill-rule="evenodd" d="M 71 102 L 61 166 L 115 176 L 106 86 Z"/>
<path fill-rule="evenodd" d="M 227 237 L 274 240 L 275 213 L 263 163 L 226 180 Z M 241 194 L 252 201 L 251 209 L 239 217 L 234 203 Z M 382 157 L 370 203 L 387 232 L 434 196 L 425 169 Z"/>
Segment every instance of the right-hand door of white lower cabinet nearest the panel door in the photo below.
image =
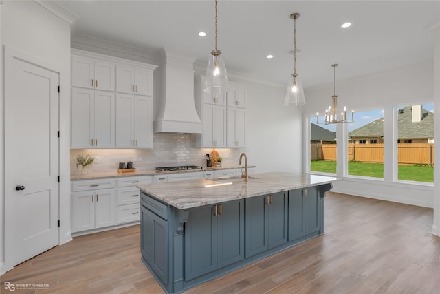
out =
<path fill-rule="evenodd" d="M 95 191 L 95 228 L 115 224 L 115 189 Z"/>

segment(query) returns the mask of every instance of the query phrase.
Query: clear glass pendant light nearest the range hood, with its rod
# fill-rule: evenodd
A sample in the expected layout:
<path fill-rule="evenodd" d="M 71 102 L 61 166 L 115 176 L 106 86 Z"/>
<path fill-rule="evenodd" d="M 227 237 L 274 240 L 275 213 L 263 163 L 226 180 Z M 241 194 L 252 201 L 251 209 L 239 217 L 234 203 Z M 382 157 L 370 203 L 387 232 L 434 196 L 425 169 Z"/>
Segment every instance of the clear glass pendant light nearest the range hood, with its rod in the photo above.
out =
<path fill-rule="evenodd" d="M 208 67 L 206 68 L 206 83 L 203 89 L 208 93 L 225 93 L 228 91 L 228 74 L 226 65 L 221 56 L 221 51 L 217 49 L 217 0 L 215 0 L 215 50 L 212 50 Z"/>

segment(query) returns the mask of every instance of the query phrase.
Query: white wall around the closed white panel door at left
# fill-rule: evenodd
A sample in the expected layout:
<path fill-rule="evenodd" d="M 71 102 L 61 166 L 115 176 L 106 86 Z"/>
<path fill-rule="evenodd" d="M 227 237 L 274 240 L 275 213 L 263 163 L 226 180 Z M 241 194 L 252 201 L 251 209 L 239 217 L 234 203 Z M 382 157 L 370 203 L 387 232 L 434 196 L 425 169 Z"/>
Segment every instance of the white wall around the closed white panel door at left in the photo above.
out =
<path fill-rule="evenodd" d="M 71 239 L 70 235 L 70 24 L 34 1 L 4 1 L 1 6 L 1 45 L 26 52 L 37 59 L 47 61 L 60 71 L 60 244 Z M 3 67 L 2 67 L 3 68 Z M 2 80 L 3 81 L 3 80 Z M 3 88 L 3 85 L 2 85 Z M 1 93 L 1 105 L 4 103 Z M 4 109 L 8 111 L 8 109 Z M 3 115 L 1 116 L 4 117 Z M 2 142 L 3 128 L 0 130 Z M 4 145 L 0 154 L 4 156 Z M 5 156 L 8 156 L 7 154 Z M 1 162 L 4 158 L 1 159 Z M 2 164 L 2 167 L 4 165 Z M 1 218 L 4 223 L 4 174 L 1 174 Z M 8 211 L 11 213 L 12 211 Z M 0 231 L 0 263 L 5 261 L 4 228 Z M 2 270 L 4 271 L 4 267 Z"/>

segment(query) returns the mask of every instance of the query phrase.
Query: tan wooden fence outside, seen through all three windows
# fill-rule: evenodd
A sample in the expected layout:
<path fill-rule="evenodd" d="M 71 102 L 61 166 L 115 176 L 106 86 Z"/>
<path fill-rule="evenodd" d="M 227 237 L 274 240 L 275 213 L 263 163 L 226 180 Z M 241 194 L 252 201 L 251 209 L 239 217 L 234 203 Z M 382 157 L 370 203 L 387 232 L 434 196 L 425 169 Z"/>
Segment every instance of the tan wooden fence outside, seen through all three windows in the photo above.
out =
<path fill-rule="evenodd" d="M 384 144 L 349 144 L 349 160 L 384 162 Z M 311 160 L 336 160 L 336 144 L 311 144 Z M 398 144 L 399 165 L 434 165 L 434 144 Z"/>

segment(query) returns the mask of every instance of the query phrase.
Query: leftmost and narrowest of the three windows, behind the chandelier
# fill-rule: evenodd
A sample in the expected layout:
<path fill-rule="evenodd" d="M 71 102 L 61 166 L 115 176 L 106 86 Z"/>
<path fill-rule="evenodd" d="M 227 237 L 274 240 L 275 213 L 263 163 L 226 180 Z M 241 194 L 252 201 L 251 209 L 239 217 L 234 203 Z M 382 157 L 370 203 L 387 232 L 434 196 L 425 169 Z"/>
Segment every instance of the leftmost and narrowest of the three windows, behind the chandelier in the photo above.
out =
<path fill-rule="evenodd" d="M 325 121 L 324 116 L 318 121 Z M 310 118 L 310 171 L 336 174 L 336 125 L 316 123 Z"/>

